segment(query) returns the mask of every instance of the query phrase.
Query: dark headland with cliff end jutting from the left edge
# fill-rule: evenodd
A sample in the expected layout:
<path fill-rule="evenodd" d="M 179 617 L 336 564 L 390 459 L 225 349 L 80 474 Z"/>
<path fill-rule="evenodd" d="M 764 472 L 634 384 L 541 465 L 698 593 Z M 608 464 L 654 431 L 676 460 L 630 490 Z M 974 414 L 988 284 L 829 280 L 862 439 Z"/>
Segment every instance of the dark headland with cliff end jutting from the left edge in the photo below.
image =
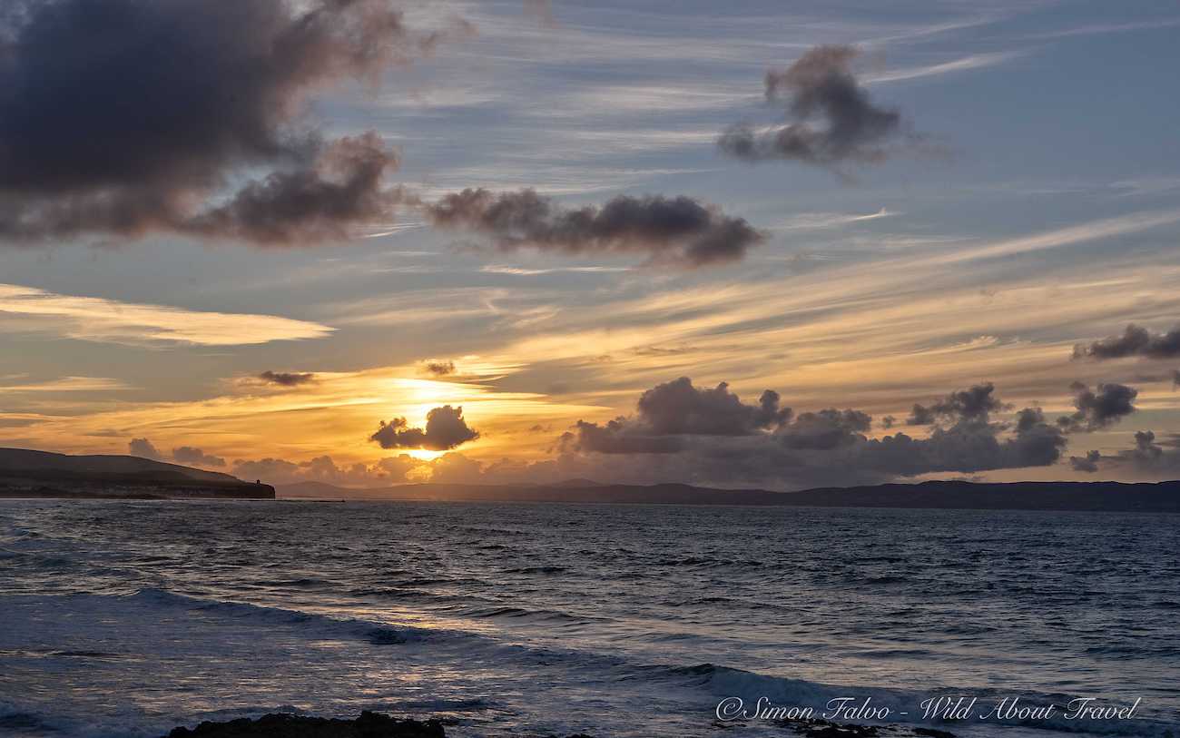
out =
<path fill-rule="evenodd" d="M 274 496 L 275 490 L 268 484 L 138 456 L 68 456 L 0 449 L 0 497 Z"/>

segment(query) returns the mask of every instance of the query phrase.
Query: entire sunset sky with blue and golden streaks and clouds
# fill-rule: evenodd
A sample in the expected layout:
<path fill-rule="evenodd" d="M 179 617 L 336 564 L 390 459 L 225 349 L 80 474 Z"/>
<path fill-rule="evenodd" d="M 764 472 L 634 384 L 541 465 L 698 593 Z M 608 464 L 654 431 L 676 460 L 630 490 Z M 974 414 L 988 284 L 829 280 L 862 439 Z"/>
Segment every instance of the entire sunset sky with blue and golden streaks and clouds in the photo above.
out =
<path fill-rule="evenodd" d="M 1180 475 L 1173 2 L 0 11 L 0 445 Z"/>

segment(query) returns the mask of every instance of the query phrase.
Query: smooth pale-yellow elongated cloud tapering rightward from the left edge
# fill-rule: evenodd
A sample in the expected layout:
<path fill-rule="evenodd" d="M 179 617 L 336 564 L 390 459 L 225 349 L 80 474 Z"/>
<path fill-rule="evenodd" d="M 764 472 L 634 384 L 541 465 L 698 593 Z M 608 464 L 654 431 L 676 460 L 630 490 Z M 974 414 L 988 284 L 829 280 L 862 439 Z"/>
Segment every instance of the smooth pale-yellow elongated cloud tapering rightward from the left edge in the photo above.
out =
<path fill-rule="evenodd" d="M 20 285 L 0 285 L 0 314 L 19 320 L 0 331 L 47 332 L 112 344 L 245 346 L 322 338 L 328 326 L 276 315 L 189 311 L 164 305 L 80 298 Z"/>

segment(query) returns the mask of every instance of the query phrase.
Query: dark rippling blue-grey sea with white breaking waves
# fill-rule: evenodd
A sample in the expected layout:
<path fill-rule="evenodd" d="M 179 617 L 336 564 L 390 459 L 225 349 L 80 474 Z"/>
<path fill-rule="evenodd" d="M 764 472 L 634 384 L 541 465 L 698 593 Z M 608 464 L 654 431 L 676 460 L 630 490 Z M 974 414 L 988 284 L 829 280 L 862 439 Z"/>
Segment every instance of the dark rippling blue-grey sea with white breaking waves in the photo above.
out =
<path fill-rule="evenodd" d="M 756 714 L 719 733 L 719 703 L 822 714 L 841 697 L 958 736 L 1180 734 L 1178 523 L 5 501 L 0 734 L 372 708 L 460 737 L 756 737 L 789 733 Z M 944 695 L 978 704 L 925 720 Z M 1004 698 L 1141 703 L 1126 719 L 978 717 Z"/>

